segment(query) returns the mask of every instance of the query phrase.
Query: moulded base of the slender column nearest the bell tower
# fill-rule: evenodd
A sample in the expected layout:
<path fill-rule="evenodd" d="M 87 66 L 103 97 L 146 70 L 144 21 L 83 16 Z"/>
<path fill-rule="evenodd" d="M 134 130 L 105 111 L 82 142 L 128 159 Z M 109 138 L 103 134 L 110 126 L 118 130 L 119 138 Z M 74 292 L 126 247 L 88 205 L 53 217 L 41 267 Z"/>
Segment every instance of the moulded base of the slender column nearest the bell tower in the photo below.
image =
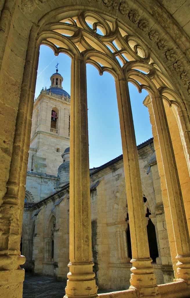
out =
<path fill-rule="evenodd" d="M 64 297 L 94 298 L 98 296 L 98 287 L 94 279 L 95 273 L 92 271 L 92 266 L 94 266 L 93 262 L 68 264 L 70 271 L 67 274 L 68 280 Z"/>

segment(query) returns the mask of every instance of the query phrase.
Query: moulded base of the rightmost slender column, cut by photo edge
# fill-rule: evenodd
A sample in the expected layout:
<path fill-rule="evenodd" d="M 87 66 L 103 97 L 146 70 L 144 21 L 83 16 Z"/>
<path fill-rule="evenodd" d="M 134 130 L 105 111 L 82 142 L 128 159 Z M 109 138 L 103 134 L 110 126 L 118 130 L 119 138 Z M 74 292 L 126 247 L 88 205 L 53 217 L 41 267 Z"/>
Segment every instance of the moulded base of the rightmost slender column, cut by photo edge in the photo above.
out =
<path fill-rule="evenodd" d="M 190 287 L 190 256 L 177 256 L 177 278 L 173 281 L 184 280 Z"/>

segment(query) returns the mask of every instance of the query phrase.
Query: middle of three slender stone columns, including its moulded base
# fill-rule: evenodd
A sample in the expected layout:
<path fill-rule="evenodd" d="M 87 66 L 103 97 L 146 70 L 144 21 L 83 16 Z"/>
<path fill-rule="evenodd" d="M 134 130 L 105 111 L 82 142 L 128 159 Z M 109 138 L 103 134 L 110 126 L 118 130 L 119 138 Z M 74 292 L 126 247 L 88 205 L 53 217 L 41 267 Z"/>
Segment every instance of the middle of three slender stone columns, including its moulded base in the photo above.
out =
<path fill-rule="evenodd" d="M 130 288 L 135 288 L 140 297 L 159 297 L 160 295 L 156 285 L 154 269 L 151 266 L 152 259 L 149 254 L 143 191 L 140 179 L 128 82 L 124 78 L 119 78 L 115 84 L 121 128 L 132 246 L 131 263 L 133 264 L 133 267 L 131 268 Z"/>

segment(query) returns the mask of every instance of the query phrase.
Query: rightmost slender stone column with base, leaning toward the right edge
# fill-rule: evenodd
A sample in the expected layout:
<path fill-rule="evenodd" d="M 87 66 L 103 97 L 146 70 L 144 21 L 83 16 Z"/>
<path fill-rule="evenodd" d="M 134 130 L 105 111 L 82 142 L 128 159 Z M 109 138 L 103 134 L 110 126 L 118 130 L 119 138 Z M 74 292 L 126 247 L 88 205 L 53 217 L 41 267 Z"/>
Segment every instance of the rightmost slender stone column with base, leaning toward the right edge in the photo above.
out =
<path fill-rule="evenodd" d="M 177 251 L 177 276 L 176 280 L 186 280 L 190 286 L 190 239 L 186 221 L 181 186 L 178 177 L 178 170 L 175 162 L 175 155 L 172 147 L 170 131 L 164 109 L 162 97 L 151 98 L 152 108 L 158 133 L 164 175 L 167 185 L 167 193 L 170 204 L 172 225 Z M 167 214 L 166 214 L 167 217 Z"/>

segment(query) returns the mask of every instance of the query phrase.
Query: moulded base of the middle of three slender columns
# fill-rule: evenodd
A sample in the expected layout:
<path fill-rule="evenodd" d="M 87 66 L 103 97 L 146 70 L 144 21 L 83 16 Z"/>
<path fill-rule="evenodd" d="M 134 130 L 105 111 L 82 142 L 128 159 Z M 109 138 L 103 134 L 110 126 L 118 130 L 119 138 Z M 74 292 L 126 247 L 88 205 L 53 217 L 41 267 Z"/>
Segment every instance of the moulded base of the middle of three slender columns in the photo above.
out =
<path fill-rule="evenodd" d="M 136 292 L 138 292 L 139 297 L 160 297 L 158 286 L 156 285 L 154 268 L 152 267 L 151 262 L 151 258 L 131 260 L 133 267 L 131 268 L 131 286 L 129 289 L 135 289 Z"/>

